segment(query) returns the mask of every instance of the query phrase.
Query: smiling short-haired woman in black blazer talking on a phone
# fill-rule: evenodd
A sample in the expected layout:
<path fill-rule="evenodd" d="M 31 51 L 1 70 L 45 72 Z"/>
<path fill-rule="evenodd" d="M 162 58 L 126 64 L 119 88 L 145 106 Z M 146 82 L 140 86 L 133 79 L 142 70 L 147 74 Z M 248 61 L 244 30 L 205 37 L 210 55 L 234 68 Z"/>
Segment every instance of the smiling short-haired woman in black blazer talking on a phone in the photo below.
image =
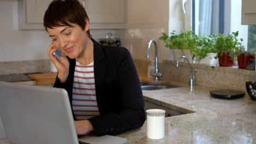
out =
<path fill-rule="evenodd" d="M 47 52 L 58 70 L 54 87 L 68 92 L 77 134 L 119 134 L 142 127 L 144 100 L 129 51 L 92 39 L 89 18 L 77 0 L 51 2 L 44 27 L 52 39 Z M 53 55 L 57 49 L 60 61 Z"/>

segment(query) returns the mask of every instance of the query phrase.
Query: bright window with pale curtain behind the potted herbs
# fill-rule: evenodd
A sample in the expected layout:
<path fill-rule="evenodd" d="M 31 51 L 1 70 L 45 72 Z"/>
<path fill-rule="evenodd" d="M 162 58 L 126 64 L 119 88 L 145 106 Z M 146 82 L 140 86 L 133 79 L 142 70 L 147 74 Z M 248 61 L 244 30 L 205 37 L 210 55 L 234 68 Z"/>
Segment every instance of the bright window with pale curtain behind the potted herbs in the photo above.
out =
<path fill-rule="evenodd" d="M 239 32 L 246 50 L 256 51 L 256 26 L 241 25 L 242 0 L 192 0 L 192 29 L 196 34 Z"/>

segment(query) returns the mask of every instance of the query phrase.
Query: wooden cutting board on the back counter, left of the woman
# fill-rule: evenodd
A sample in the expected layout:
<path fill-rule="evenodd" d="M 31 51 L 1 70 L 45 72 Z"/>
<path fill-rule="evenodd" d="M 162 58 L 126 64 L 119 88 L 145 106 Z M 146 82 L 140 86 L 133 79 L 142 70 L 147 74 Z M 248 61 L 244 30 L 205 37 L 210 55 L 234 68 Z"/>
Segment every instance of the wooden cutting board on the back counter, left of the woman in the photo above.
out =
<path fill-rule="evenodd" d="M 37 85 L 46 85 L 55 82 L 57 73 L 28 74 L 27 76 L 36 81 Z"/>

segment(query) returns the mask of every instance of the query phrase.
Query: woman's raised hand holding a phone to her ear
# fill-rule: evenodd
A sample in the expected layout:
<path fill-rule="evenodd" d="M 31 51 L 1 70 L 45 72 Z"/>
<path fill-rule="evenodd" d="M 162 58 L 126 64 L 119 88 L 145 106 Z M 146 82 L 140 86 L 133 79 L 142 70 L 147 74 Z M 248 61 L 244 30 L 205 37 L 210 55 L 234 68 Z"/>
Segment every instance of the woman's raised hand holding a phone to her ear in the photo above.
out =
<path fill-rule="evenodd" d="M 69 61 L 65 54 L 61 52 L 60 61 L 53 55 L 53 52 L 57 49 L 54 48 L 54 41 L 51 41 L 51 44 L 48 47 L 47 53 L 50 57 L 51 62 L 54 63 L 56 69 L 58 70 L 58 75 L 60 82 L 65 83 L 69 73 Z"/>

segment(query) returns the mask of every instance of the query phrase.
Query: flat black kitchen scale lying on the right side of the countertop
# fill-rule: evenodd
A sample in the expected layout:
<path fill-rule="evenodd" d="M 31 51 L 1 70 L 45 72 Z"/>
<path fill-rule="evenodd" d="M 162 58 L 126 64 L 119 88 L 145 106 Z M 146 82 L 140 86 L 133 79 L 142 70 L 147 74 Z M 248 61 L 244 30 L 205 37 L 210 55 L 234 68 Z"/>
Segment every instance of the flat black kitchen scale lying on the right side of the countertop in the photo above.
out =
<path fill-rule="evenodd" d="M 245 95 L 244 92 L 236 91 L 233 89 L 218 89 L 210 91 L 212 97 L 220 99 L 237 99 Z"/>

